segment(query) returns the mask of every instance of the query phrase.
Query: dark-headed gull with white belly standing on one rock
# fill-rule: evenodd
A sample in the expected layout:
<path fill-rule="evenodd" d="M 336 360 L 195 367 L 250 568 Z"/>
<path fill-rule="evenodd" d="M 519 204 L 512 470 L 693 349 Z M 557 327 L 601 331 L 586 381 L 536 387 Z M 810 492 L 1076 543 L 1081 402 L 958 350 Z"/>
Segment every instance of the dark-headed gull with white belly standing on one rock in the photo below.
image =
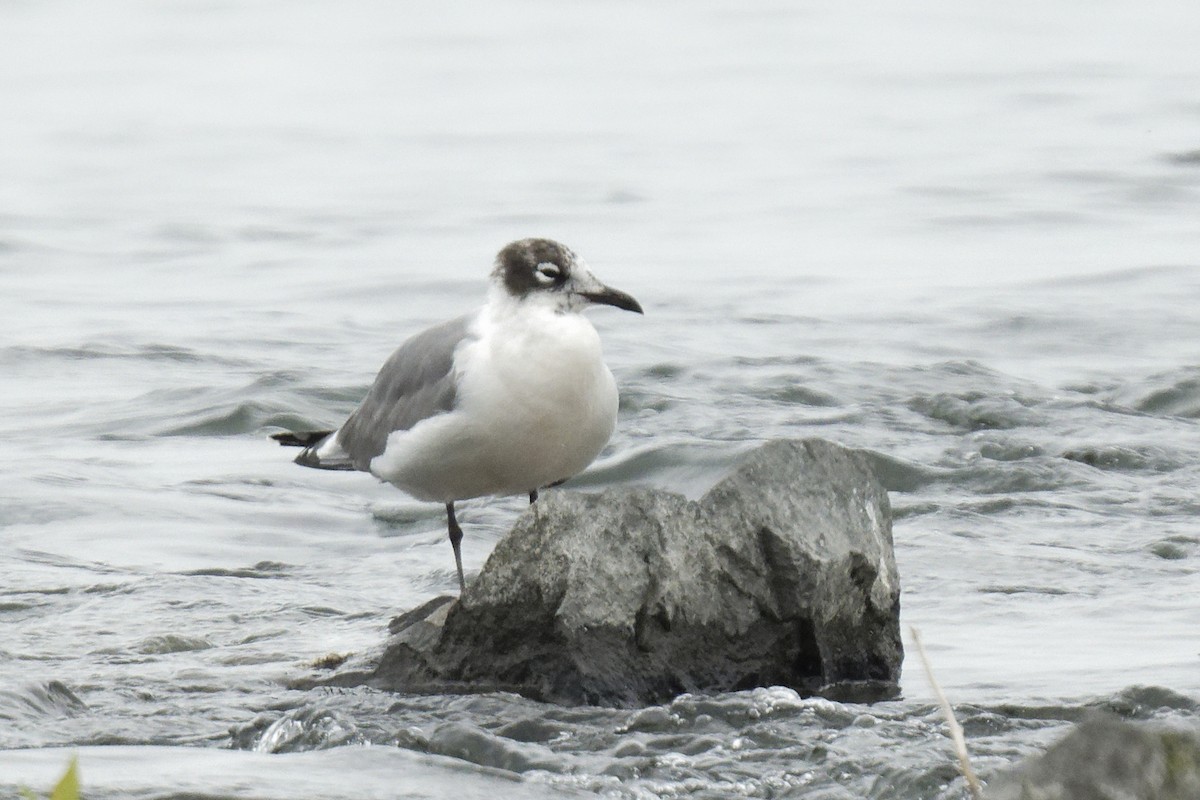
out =
<path fill-rule="evenodd" d="M 568 247 L 522 239 L 496 257 L 487 302 L 416 333 L 383 365 L 336 431 L 276 433 L 295 463 L 371 473 L 418 500 L 445 504 L 462 575 L 458 500 L 528 494 L 581 473 L 617 425 L 617 383 L 581 313 L 642 313 Z"/>

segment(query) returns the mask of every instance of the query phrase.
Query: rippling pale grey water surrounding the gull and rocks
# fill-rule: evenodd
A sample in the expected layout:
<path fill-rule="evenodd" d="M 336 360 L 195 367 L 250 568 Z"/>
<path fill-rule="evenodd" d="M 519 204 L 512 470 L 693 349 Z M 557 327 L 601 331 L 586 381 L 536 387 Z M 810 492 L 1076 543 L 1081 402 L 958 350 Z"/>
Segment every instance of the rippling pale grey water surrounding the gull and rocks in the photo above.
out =
<path fill-rule="evenodd" d="M 959 798 L 877 705 L 300 691 L 452 591 L 440 511 L 266 441 L 496 249 L 637 296 L 577 489 L 877 453 L 986 777 L 1200 717 L 1190 4 L 0 5 L 0 787 L 91 798 Z M 520 499 L 466 504 L 478 570 Z M 274 754 L 272 754 L 274 753 Z"/>

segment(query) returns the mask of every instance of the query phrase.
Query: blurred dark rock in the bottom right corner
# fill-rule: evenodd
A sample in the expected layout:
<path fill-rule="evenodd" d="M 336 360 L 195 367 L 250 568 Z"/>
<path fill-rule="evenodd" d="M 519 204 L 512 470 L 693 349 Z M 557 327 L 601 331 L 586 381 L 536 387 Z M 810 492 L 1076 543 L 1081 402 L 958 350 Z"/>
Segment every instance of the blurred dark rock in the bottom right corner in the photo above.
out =
<path fill-rule="evenodd" d="M 989 782 L 988 800 L 1196 800 L 1200 734 L 1096 716 Z"/>

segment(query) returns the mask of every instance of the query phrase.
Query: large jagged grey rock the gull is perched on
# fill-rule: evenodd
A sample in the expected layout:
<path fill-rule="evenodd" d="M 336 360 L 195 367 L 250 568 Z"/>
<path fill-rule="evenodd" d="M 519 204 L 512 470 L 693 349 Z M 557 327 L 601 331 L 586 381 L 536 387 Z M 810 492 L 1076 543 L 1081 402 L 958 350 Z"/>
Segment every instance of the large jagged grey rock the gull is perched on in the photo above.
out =
<path fill-rule="evenodd" d="M 877 699 L 900 674 L 899 612 L 868 461 L 772 441 L 698 503 L 544 493 L 458 602 L 397 618 L 373 670 L 331 682 L 596 705 L 769 685 Z"/>

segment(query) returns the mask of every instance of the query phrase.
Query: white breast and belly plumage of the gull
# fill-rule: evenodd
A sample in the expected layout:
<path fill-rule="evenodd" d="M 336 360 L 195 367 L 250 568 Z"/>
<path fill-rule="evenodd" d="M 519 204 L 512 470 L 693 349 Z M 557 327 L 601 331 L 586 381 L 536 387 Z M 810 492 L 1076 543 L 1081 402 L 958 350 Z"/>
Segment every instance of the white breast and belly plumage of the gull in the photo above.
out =
<path fill-rule="evenodd" d="M 480 320 L 456 354 L 455 410 L 388 438 L 371 471 L 415 498 L 521 494 L 571 477 L 617 421 L 617 384 L 581 314 Z"/>

